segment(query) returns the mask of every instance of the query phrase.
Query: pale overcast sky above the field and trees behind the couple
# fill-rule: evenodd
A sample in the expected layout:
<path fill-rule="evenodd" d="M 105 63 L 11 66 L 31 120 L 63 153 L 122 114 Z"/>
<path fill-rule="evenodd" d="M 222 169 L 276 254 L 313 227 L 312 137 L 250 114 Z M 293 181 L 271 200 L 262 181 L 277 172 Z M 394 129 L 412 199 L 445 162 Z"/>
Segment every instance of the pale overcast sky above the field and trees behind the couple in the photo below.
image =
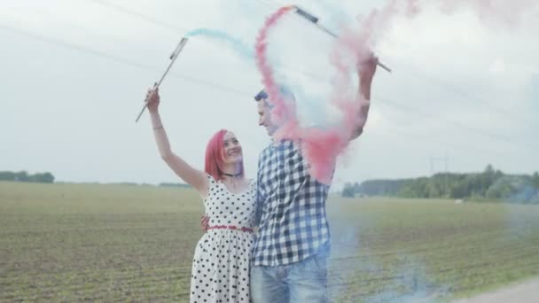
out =
<path fill-rule="evenodd" d="M 68 182 L 178 182 L 159 157 L 147 113 L 135 123 L 145 90 L 187 31 L 216 28 L 254 43 L 278 4 L 0 0 L 0 170 L 49 171 Z M 338 22 L 386 1 L 296 4 L 337 30 Z M 507 173 L 539 170 L 539 12 L 524 11 L 509 23 L 466 9 L 395 21 L 376 50 L 394 72 L 379 70 L 370 120 L 340 160 L 333 189 L 430 175 L 446 163 L 451 172 L 489 163 Z M 276 30 L 300 37 L 296 46 L 307 61 L 315 56 L 315 48 L 302 46 L 305 27 L 284 27 Z M 311 35 L 309 43 L 327 46 L 327 36 Z M 253 96 L 262 86 L 254 62 L 192 37 L 171 73 L 160 90 L 173 150 L 201 169 L 208 138 L 229 128 L 254 176 L 269 144 L 257 125 Z"/>

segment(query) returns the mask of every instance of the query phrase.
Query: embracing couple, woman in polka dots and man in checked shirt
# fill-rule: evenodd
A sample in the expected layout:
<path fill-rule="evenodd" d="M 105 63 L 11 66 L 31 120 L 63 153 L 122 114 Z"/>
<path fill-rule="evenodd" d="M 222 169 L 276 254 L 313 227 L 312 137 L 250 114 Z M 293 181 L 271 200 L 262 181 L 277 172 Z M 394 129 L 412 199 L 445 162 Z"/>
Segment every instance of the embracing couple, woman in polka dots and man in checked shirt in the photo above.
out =
<path fill-rule="evenodd" d="M 371 57 L 358 66 L 358 99 L 365 102 L 350 140 L 363 132 L 377 62 Z M 271 96 L 262 90 L 254 99 L 259 125 L 271 136 L 279 128 L 271 120 Z M 222 129 L 207 144 L 202 171 L 171 150 L 158 89 L 149 89 L 145 100 L 161 158 L 204 201 L 207 232 L 194 253 L 191 302 L 328 302 L 329 185 L 309 175 L 301 144 L 271 142 L 249 180 L 238 138 Z"/>

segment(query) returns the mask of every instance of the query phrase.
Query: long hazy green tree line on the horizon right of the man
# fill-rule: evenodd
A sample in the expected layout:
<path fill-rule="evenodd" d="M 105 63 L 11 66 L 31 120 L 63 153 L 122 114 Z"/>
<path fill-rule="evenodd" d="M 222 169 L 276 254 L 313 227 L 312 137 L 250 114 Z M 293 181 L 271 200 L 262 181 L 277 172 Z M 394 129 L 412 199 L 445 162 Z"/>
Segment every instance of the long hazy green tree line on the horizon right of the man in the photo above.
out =
<path fill-rule="evenodd" d="M 483 172 L 346 183 L 343 197 L 455 198 L 539 204 L 539 173 L 506 175 L 488 165 Z"/>

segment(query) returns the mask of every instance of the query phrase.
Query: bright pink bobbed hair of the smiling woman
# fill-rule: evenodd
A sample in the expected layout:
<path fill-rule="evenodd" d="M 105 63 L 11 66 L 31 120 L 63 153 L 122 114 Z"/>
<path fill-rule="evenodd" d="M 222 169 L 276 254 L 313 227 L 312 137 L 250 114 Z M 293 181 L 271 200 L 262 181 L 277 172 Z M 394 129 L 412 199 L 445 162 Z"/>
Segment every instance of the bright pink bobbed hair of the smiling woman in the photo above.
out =
<path fill-rule="evenodd" d="M 224 135 L 228 132 L 226 129 L 221 129 L 215 133 L 209 139 L 206 147 L 206 158 L 204 161 L 204 171 L 207 175 L 211 175 L 215 180 L 223 179 L 223 166 L 224 166 L 224 148 L 223 148 L 223 138 Z M 243 169 L 243 159 L 240 163 L 241 166 L 241 176 L 245 176 L 245 171 Z"/>

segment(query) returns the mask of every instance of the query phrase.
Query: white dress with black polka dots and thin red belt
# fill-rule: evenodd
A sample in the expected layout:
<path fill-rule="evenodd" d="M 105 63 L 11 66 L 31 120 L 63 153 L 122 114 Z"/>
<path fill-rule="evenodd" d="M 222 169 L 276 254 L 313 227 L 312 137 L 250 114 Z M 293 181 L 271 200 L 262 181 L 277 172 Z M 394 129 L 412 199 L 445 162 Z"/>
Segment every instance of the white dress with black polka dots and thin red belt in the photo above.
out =
<path fill-rule="evenodd" d="M 254 234 L 241 228 L 254 227 L 256 184 L 251 181 L 246 190 L 232 193 L 211 176 L 208 183 L 204 206 L 209 226 L 221 228 L 208 229 L 197 244 L 191 270 L 191 303 L 248 303 Z"/>

